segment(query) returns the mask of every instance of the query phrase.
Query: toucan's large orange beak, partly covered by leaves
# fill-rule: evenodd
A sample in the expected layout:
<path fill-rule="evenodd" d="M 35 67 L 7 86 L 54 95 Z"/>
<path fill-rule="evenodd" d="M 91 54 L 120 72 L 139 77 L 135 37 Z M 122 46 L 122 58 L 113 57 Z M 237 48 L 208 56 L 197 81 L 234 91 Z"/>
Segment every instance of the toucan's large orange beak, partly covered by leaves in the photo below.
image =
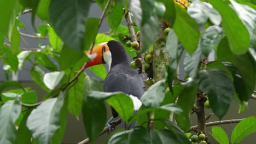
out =
<path fill-rule="evenodd" d="M 97 44 L 92 48 L 92 51 L 91 50 L 86 51 L 85 52 L 86 55 L 91 55 L 91 56 L 96 55 L 96 56 L 93 59 L 89 60 L 85 68 L 88 68 L 97 64 L 106 63 L 103 58 L 103 54 L 106 51 L 109 51 L 109 47 L 107 43 Z"/>

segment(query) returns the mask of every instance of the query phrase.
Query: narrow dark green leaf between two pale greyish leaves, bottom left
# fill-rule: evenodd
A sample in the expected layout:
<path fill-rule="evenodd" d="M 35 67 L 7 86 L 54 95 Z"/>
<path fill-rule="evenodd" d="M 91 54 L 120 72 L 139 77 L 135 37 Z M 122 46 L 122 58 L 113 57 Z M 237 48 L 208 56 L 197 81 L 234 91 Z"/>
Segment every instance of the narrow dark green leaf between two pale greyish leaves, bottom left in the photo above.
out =
<path fill-rule="evenodd" d="M 17 131 L 17 144 L 31 143 L 32 135 L 30 133 L 30 130 L 28 130 L 27 128 L 26 122 L 27 117 L 30 115 L 32 110 L 33 109 L 27 110 L 24 114 L 24 117 L 22 118 L 22 121 Z"/>

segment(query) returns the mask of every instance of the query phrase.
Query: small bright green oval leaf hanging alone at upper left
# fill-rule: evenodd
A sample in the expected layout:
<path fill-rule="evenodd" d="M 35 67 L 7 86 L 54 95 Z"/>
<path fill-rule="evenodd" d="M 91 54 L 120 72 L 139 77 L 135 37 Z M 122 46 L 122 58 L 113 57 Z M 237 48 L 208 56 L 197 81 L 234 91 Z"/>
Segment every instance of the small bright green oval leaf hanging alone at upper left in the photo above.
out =
<path fill-rule="evenodd" d="M 13 52 L 17 52 L 20 47 L 20 32 L 18 31 L 16 25 L 13 27 L 13 31 L 11 32 L 10 38 L 11 50 Z"/>

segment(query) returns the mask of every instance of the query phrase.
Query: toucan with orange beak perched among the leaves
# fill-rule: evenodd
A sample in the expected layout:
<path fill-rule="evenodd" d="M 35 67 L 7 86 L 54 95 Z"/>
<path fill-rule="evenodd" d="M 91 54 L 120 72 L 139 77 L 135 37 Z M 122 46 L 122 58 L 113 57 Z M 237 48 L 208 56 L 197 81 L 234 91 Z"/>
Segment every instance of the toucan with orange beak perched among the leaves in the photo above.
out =
<path fill-rule="evenodd" d="M 96 53 L 96 54 L 95 54 Z M 92 50 L 86 51 L 87 55 L 93 56 L 86 68 L 97 64 L 108 64 L 108 74 L 104 80 L 104 92 L 124 92 L 133 101 L 135 112 L 142 105 L 139 98 L 143 94 L 143 81 L 137 71 L 130 67 L 127 54 L 123 45 L 118 41 L 110 40 L 106 43 L 95 45 Z M 118 117 L 117 111 L 111 107 L 112 117 L 107 125 Z"/>

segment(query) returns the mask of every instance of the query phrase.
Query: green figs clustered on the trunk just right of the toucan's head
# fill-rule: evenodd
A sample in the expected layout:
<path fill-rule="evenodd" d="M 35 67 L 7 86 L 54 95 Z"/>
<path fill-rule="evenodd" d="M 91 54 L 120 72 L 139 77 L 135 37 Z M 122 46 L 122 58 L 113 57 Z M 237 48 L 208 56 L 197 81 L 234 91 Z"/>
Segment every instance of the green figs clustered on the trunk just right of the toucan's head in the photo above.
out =
<path fill-rule="evenodd" d="M 139 51 L 139 41 L 140 41 L 139 40 L 139 31 L 137 32 L 136 36 L 137 36 L 138 40 L 133 41 L 133 42 L 131 42 L 129 40 L 129 41 L 126 42 L 126 46 L 127 47 L 132 47 L 135 51 Z M 134 61 L 132 61 L 130 63 L 130 67 L 133 68 L 133 69 L 141 68 L 142 59 L 140 57 L 136 57 L 133 60 Z M 147 50 L 145 52 L 144 61 L 145 61 L 144 68 L 145 68 L 145 70 L 148 70 L 152 66 L 152 63 L 153 63 L 153 52 L 152 52 L 152 50 Z M 148 86 L 151 86 L 151 85 L 154 84 L 154 80 L 149 78 L 149 79 L 146 80 L 146 84 Z"/>

